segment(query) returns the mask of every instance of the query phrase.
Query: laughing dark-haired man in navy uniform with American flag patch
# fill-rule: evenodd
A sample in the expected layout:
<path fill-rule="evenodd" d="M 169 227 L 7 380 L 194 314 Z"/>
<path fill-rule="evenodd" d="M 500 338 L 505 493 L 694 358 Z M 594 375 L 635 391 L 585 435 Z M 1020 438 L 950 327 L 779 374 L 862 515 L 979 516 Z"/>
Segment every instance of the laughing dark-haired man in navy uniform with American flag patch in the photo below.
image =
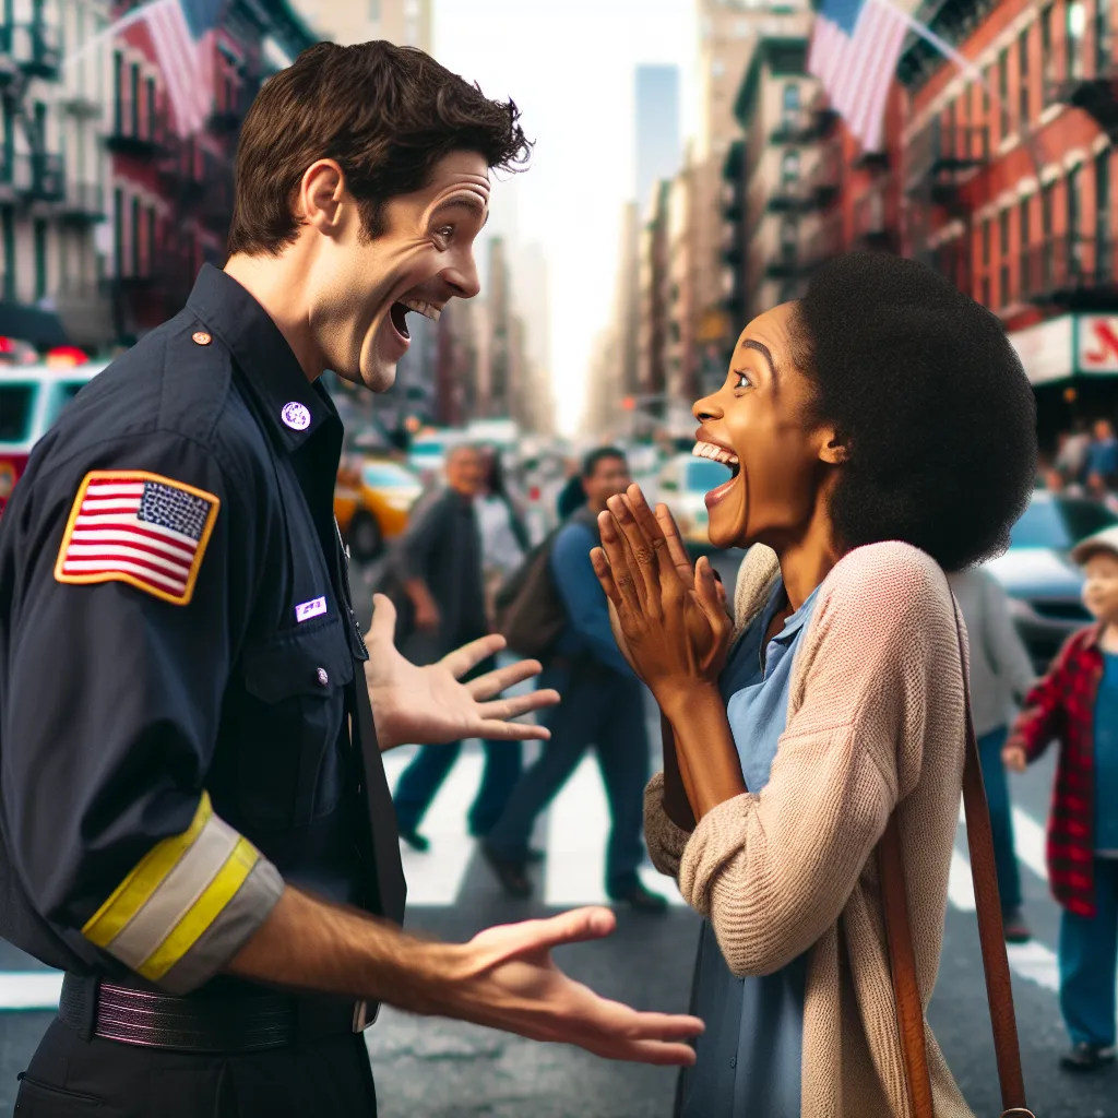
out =
<path fill-rule="evenodd" d="M 499 638 L 411 665 L 382 597 L 366 652 L 319 377 L 387 389 L 407 313 L 477 293 L 517 117 L 421 51 L 305 51 L 245 119 L 226 269 L 36 447 L 0 521 L 0 930 L 67 976 L 17 1112 L 372 1115 L 380 1002 L 693 1060 L 701 1023 L 552 965 L 601 910 L 396 926 L 379 750 L 533 737 L 506 720 L 557 697 L 486 701 L 531 664 L 458 683 Z"/>

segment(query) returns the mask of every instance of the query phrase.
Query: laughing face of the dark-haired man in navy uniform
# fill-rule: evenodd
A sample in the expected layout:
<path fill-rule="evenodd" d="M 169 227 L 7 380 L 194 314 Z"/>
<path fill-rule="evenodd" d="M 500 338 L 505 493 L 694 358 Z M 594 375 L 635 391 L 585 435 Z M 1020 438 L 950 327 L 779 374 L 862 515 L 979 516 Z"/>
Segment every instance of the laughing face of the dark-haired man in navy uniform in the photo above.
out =
<path fill-rule="evenodd" d="M 391 198 L 381 231 L 364 236 L 356 202 L 315 265 L 316 343 L 325 367 L 375 392 L 391 388 L 408 351 L 407 319 L 438 319 L 446 303 L 480 290 L 474 240 L 489 217 L 484 157 L 452 152 L 420 190 Z"/>

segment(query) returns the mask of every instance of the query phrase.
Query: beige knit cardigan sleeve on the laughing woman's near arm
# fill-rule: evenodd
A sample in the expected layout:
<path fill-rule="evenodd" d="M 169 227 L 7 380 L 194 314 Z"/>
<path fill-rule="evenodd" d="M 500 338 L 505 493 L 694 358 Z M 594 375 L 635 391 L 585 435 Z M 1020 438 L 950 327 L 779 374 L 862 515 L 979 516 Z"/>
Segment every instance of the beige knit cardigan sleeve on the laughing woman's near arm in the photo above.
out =
<path fill-rule="evenodd" d="M 859 550 L 821 590 L 769 783 L 708 812 L 680 860 L 680 891 L 739 977 L 778 970 L 837 920 L 919 780 L 929 704 L 961 708 L 942 572 L 907 544 Z"/>

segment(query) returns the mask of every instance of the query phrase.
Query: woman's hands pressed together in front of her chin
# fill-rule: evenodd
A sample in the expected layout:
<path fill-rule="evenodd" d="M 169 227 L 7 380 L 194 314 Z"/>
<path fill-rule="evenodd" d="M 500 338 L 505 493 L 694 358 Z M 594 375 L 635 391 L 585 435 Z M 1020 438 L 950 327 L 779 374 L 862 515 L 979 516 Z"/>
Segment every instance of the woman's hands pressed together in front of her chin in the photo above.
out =
<path fill-rule="evenodd" d="M 590 560 L 634 671 L 657 700 L 717 681 L 733 622 L 710 560 L 702 557 L 692 572 L 671 513 L 664 505 L 653 513 L 638 485 L 607 508 Z"/>

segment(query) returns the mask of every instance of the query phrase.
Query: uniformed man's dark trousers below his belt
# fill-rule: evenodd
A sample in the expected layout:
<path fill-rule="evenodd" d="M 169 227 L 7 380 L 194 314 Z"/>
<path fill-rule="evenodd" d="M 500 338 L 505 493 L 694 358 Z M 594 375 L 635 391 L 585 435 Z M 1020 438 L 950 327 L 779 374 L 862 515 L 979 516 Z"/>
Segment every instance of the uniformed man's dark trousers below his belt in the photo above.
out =
<path fill-rule="evenodd" d="M 244 1055 L 93 1038 L 55 1018 L 21 1077 L 16 1118 L 376 1118 L 364 1036 Z"/>

